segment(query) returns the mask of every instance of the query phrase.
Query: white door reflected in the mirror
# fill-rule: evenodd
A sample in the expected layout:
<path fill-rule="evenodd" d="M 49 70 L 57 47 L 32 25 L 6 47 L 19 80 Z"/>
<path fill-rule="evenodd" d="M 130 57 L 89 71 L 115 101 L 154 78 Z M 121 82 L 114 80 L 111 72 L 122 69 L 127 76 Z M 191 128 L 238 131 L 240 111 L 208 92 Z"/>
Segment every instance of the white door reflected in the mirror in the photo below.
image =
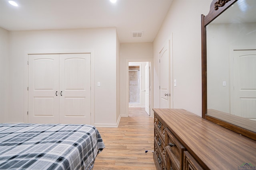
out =
<path fill-rule="evenodd" d="M 231 113 L 256 118 L 256 50 L 236 50 L 231 65 Z"/>

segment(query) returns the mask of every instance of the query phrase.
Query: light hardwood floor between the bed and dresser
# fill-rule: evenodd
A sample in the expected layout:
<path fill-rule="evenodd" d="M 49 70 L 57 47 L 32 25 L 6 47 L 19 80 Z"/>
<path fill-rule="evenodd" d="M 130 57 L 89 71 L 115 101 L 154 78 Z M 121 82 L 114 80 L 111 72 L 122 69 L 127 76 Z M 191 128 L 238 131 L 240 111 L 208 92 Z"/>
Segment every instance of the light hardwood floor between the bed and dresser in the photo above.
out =
<path fill-rule="evenodd" d="M 93 170 L 156 170 L 153 161 L 154 123 L 145 109 L 130 108 L 116 128 L 98 127 L 106 148 Z"/>

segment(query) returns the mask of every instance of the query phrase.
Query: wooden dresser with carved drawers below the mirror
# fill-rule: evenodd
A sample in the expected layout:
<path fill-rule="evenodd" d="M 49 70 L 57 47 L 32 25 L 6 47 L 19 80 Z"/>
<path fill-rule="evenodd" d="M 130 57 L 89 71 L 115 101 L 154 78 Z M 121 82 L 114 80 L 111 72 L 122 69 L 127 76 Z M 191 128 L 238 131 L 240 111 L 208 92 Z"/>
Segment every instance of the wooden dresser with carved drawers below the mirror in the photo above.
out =
<path fill-rule="evenodd" d="M 153 109 L 158 170 L 256 170 L 256 141 L 184 109 Z"/>

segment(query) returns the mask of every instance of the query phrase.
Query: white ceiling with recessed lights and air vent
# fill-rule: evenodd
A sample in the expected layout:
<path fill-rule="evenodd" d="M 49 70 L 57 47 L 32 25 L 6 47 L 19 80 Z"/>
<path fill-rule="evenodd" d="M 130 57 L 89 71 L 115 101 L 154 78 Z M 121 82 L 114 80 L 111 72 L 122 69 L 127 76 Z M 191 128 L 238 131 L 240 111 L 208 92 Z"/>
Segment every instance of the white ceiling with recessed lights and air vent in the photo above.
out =
<path fill-rule="evenodd" d="M 172 0 L 0 0 L 0 27 L 9 31 L 116 27 L 121 43 L 152 42 Z M 133 31 L 143 37 L 132 38 Z"/>

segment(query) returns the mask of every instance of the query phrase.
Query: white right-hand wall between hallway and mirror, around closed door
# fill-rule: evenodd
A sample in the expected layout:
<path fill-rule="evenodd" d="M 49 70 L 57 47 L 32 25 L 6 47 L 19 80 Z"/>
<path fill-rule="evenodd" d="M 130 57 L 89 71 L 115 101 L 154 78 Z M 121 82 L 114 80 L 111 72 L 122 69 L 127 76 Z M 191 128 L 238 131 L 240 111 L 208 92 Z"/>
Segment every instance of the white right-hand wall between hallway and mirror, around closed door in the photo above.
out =
<path fill-rule="evenodd" d="M 202 116 L 201 14 L 207 15 L 212 0 L 173 0 L 154 39 L 154 107 L 159 104 L 158 53 L 173 34 L 174 108 Z"/>

